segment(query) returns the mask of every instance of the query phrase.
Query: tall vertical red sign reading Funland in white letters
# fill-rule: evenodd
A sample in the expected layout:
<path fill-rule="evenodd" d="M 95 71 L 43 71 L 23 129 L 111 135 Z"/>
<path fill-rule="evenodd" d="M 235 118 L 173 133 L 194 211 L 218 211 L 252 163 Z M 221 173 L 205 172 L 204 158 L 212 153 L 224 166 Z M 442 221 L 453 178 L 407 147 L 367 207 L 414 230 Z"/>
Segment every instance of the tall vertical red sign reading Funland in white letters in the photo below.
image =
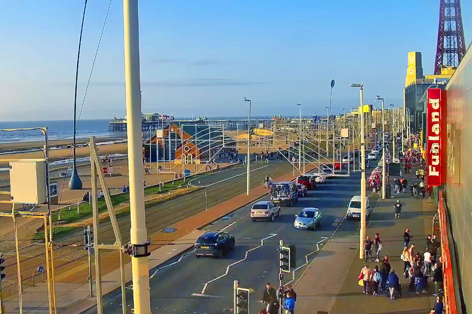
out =
<path fill-rule="evenodd" d="M 443 99 L 441 88 L 428 88 L 428 123 L 426 127 L 426 136 L 428 141 L 427 154 L 427 178 L 428 185 L 441 185 L 441 165 L 443 163 L 443 145 L 442 137 L 446 130 L 444 129 L 443 119 Z"/>

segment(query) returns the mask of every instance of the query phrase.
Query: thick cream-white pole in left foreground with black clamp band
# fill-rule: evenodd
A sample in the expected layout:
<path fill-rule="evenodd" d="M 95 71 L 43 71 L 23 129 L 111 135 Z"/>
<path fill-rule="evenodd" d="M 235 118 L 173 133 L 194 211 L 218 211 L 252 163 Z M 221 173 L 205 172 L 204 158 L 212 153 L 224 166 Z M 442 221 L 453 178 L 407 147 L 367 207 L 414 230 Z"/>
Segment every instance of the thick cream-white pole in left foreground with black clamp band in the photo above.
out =
<path fill-rule="evenodd" d="M 130 182 L 131 255 L 135 314 L 150 314 L 148 231 L 144 207 L 140 103 L 138 0 L 123 0 L 126 114 L 128 120 L 128 168 Z M 135 250 L 133 250 L 135 251 Z"/>

